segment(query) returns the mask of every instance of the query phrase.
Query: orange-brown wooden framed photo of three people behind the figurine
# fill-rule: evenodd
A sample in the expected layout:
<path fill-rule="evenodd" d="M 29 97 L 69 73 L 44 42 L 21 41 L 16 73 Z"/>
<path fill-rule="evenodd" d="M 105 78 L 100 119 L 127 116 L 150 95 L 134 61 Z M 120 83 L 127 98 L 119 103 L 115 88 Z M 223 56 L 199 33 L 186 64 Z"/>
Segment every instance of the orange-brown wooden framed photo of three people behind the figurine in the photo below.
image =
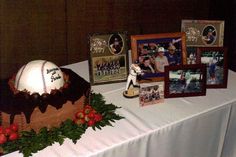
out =
<path fill-rule="evenodd" d="M 132 35 L 131 51 L 143 71 L 140 82 L 161 81 L 165 66 L 186 64 L 185 33 Z"/>

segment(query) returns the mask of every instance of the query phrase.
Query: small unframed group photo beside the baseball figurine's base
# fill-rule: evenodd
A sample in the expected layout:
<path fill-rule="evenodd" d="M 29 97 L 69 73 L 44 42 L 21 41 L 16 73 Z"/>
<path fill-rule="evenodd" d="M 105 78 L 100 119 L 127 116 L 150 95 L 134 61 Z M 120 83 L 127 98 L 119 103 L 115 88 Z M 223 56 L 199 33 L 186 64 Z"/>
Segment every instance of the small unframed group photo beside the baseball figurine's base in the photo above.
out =
<path fill-rule="evenodd" d="M 139 90 L 140 106 L 148 106 L 164 102 L 164 82 L 155 84 L 141 84 Z"/>

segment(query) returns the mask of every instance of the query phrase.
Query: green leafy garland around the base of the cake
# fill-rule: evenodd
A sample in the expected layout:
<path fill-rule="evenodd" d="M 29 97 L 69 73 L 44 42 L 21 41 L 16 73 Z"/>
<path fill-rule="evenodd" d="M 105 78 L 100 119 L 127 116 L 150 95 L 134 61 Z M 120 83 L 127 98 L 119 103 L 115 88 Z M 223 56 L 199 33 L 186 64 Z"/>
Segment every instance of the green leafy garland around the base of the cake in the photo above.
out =
<path fill-rule="evenodd" d="M 102 115 L 102 120 L 92 126 L 94 130 L 96 128 L 101 129 L 107 125 L 112 126 L 111 122 L 123 118 L 115 113 L 115 110 L 119 107 L 113 104 L 106 104 L 101 94 L 92 93 L 90 105 Z M 87 124 L 78 125 L 68 119 L 58 128 L 42 128 L 39 133 L 36 133 L 34 130 L 22 131 L 19 133 L 19 139 L 4 143 L 0 147 L 2 147 L 4 154 L 19 150 L 24 154 L 24 157 L 29 157 L 32 153 L 36 153 L 55 142 L 58 142 L 60 145 L 63 144 L 65 138 L 69 138 L 73 143 L 76 143 L 88 127 Z"/>

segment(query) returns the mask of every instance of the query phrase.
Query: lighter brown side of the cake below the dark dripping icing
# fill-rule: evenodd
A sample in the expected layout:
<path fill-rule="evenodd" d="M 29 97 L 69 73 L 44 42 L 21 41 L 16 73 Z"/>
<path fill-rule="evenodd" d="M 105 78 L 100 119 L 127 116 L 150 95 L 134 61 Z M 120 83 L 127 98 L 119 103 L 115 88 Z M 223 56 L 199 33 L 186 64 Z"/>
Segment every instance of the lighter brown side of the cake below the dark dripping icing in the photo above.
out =
<path fill-rule="evenodd" d="M 75 113 L 83 109 L 85 100 L 86 97 L 83 96 L 74 102 L 74 104 L 72 104 L 71 101 L 67 101 L 60 109 L 48 105 L 44 113 L 36 107 L 31 114 L 30 123 L 26 122 L 24 113 L 15 115 L 13 123 L 18 125 L 19 131 L 30 131 L 33 129 L 34 131 L 39 132 L 43 127 L 47 127 L 48 129 L 58 127 L 63 121 L 73 119 Z M 3 127 L 6 128 L 11 124 L 10 116 L 10 114 L 1 113 Z"/>

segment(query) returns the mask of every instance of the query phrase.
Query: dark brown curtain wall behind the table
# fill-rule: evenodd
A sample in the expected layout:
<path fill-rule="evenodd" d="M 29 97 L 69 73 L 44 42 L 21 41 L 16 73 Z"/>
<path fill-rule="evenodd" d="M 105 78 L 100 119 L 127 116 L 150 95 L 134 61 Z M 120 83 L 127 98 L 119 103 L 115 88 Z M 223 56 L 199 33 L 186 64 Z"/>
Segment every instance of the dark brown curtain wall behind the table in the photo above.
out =
<path fill-rule="evenodd" d="M 233 1 L 1 0 L 0 78 L 35 59 L 59 66 L 87 60 L 90 33 L 178 32 L 182 19 L 226 20 L 225 45 L 230 49 L 230 67 L 235 69 Z"/>

